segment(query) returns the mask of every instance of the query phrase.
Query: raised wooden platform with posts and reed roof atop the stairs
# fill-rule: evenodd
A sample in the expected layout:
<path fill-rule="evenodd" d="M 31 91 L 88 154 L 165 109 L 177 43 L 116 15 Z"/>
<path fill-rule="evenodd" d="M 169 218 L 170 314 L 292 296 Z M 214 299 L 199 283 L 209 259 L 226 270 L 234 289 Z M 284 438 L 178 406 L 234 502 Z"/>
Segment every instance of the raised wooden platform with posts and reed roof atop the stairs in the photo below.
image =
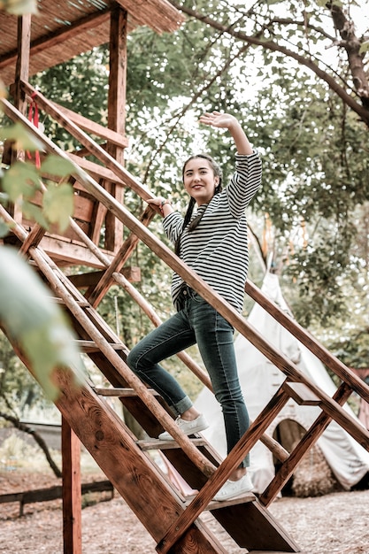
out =
<path fill-rule="evenodd" d="M 127 35 L 140 26 L 150 27 L 159 34 L 171 33 L 183 21 L 181 12 L 167 0 L 38 0 L 37 6 L 36 14 L 19 18 L 0 11 L 1 81 L 9 86 L 14 104 L 26 115 L 32 102 L 37 102 L 37 109 L 42 104 L 42 95 L 36 100 L 35 91 L 28 88 L 27 83 L 32 75 L 107 43 L 110 49 L 107 126 L 98 125 L 81 114 L 46 100 L 42 109 L 49 109 L 51 118 L 56 118 L 58 124 L 64 126 L 74 139 L 81 138 L 81 133 L 75 127 L 77 125 L 88 135 L 104 140 L 104 149 L 111 158 L 119 165 L 124 165 L 124 150 L 128 145 L 125 130 Z M 65 116 L 68 119 L 66 123 Z M 102 165 L 87 159 L 91 154 L 95 156 L 96 151 L 88 150 L 90 144 L 83 143 L 83 138 L 82 148 L 77 150 L 79 165 L 92 173 L 119 203 L 124 204 L 125 182 Z M 95 150 L 94 147 L 92 149 Z M 69 154 L 75 160 L 76 152 Z M 9 156 L 11 153 L 6 151 L 5 145 L 4 164 L 9 163 Z M 123 226 L 117 219 L 111 219 L 104 206 L 89 195 L 78 180 L 73 180 L 72 184 L 75 190 L 74 220 L 96 245 L 103 240 L 105 254 L 111 256 L 122 245 Z M 23 216 L 19 217 L 23 225 L 32 227 L 32 222 Z M 81 243 L 78 229 L 73 231 L 69 228 L 60 234 L 51 228 L 43 242 L 48 242 L 46 250 L 58 265 L 102 268 L 96 257 L 91 257 L 86 244 Z M 132 274 L 132 279 L 139 279 L 138 268 Z"/>

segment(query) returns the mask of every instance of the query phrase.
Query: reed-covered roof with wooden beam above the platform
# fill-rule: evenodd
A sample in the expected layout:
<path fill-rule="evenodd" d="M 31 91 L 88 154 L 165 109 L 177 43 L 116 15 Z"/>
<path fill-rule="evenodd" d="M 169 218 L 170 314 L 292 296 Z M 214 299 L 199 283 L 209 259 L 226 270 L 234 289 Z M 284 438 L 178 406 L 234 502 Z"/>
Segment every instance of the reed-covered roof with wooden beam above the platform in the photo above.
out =
<path fill-rule="evenodd" d="M 148 26 L 171 33 L 183 21 L 181 12 L 166 0 L 39 0 L 32 17 L 29 74 L 60 64 L 110 41 L 111 9 L 127 11 L 128 33 Z M 18 57 L 18 18 L 0 10 L 0 76 L 5 85 L 14 81 Z"/>

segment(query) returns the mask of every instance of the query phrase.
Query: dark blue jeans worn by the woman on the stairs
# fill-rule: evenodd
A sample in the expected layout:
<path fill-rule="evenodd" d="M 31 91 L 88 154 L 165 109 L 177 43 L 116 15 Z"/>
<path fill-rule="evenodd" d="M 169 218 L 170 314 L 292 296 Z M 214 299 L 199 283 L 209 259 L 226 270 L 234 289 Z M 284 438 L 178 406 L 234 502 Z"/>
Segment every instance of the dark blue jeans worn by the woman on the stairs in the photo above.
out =
<path fill-rule="evenodd" d="M 127 365 L 181 415 L 193 404 L 159 362 L 197 343 L 222 408 L 229 453 L 250 426 L 234 356 L 234 328 L 194 290 L 186 289 L 186 293 L 181 311 L 136 344 Z M 241 466 L 249 466 L 249 456 Z"/>

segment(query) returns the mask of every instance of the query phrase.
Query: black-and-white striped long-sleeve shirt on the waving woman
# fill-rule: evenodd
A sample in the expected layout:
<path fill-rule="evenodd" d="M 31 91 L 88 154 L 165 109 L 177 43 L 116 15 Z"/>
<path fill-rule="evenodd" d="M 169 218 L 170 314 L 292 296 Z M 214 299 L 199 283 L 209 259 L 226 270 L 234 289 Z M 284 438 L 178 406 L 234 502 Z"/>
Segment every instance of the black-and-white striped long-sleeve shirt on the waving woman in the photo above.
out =
<path fill-rule="evenodd" d="M 167 215 L 163 228 L 172 242 L 181 235 L 181 259 L 241 312 L 249 267 L 245 208 L 260 186 L 261 160 L 254 151 L 249 156 L 236 154 L 235 162 L 231 181 L 211 198 L 203 219 L 193 231 L 186 227 L 181 235 L 183 217 L 179 212 Z M 182 285 L 180 275 L 173 273 L 174 305 Z"/>

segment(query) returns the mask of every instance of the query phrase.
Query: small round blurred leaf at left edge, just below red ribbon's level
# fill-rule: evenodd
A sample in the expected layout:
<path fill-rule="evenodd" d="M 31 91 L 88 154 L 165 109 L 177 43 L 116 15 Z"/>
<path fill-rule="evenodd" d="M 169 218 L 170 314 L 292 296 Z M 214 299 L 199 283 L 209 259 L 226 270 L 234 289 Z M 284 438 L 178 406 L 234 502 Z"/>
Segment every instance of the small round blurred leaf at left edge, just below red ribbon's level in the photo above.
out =
<path fill-rule="evenodd" d="M 16 162 L 4 172 L 3 188 L 8 193 L 12 202 L 16 202 L 19 196 L 32 198 L 35 191 L 40 189 L 40 177 L 35 165 Z"/>

